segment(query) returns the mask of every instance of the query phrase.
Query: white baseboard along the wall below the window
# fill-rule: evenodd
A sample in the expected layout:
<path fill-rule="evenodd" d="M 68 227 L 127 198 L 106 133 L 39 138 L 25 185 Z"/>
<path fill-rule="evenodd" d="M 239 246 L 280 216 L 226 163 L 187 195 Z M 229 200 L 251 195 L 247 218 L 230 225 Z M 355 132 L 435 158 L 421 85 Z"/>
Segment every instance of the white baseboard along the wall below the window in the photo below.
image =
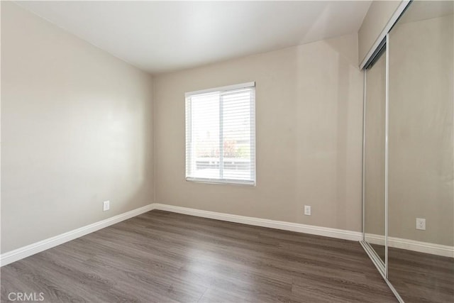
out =
<path fill-rule="evenodd" d="M 322 226 L 306 225 L 299 223 L 291 223 L 286 221 L 275 221 L 270 219 L 260 219 L 252 216 L 238 216 L 235 214 L 224 214 L 216 211 L 203 211 L 200 209 L 190 209 L 187 207 L 173 206 L 168 204 L 153 204 L 153 209 L 163 211 L 172 211 L 179 214 L 189 214 L 191 216 L 201 216 L 209 219 L 221 221 L 235 222 L 248 224 L 253 226 L 262 226 L 268 228 L 276 228 L 284 231 L 297 231 L 299 233 L 310 233 L 311 235 L 326 236 L 331 238 L 341 238 L 344 240 L 360 241 L 362 233 L 359 231 L 346 231 L 343 229 L 329 228 Z"/>

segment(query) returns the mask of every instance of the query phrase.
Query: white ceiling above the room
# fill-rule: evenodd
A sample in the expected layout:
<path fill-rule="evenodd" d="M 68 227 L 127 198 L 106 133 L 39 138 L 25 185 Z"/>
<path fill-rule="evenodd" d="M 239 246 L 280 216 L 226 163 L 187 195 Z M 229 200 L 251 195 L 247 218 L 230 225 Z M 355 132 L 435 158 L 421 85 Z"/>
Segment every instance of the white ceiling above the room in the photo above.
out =
<path fill-rule="evenodd" d="M 150 73 L 355 33 L 370 1 L 21 1 Z"/>

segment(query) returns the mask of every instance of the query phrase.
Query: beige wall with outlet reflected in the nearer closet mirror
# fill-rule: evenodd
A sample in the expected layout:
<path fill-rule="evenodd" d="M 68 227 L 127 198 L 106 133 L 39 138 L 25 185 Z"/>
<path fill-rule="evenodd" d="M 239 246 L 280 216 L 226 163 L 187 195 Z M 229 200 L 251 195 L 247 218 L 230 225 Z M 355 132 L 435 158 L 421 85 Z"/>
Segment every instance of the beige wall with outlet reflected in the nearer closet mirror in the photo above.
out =
<path fill-rule="evenodd" d="M 389 41 L 389 236 L 448 246 L 454 245 L 453 28 L 452 14 L 403 23 Z M 426 231 L 416 230 L 416 218 L 426 219 Z"/>

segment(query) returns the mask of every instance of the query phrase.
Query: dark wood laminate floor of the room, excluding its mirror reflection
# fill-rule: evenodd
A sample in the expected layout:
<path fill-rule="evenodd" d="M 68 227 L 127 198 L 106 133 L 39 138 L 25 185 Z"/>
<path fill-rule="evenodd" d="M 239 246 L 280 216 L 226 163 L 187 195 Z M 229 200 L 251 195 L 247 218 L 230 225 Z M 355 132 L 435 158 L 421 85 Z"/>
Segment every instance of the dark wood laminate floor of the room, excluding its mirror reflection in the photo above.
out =
<path fill-rule="evenodd" d="M 150 211 L 1 268 L 45 302 L 397 302 L 358 242 Z"/>

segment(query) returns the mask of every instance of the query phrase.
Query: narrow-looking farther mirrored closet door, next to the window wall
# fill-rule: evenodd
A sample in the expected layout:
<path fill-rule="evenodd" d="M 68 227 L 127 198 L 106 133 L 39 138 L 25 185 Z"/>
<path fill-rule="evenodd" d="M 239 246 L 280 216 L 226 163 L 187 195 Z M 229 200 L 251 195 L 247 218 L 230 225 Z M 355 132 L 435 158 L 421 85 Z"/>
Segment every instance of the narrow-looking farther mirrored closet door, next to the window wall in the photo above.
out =
<path fill-rule="evenodd" d="M 384 264 L 384 131 L 386 52 L 365 70 L 364 231 Z"/>

